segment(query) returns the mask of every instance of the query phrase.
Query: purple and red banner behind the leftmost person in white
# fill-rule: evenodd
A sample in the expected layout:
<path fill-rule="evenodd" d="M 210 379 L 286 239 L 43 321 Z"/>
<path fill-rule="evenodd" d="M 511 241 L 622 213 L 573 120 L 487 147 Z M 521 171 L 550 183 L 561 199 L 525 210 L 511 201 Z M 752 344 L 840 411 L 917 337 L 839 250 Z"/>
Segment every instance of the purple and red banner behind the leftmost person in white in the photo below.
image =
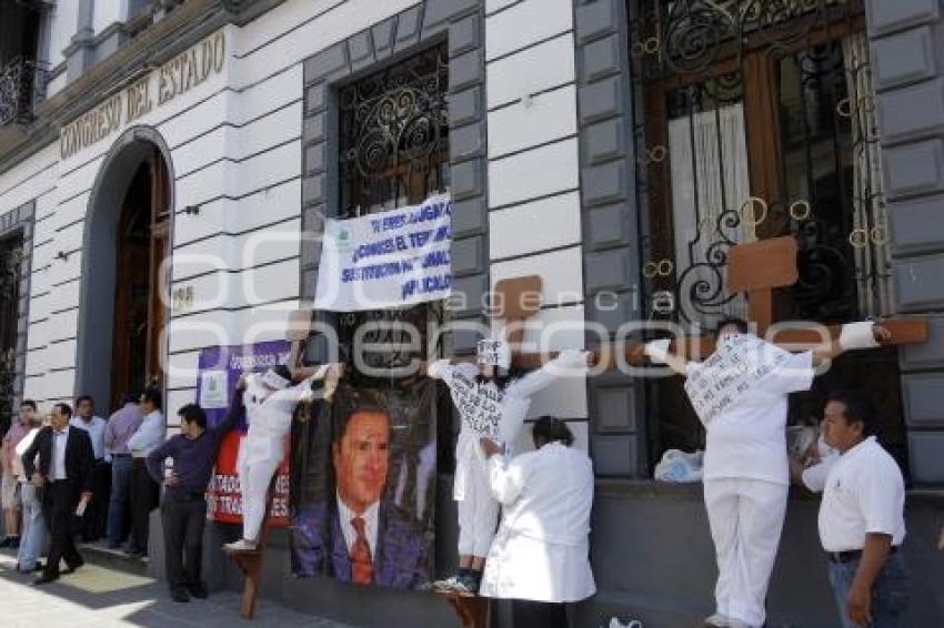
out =
<path fill-rule="evenodd" d="M 198 362 L 197 403 L 207 412 L 207 424 L 215 427 L 229 411 L 230 401 L 239 378 L 244 374 L 260 373 L 278 364 L 285 364 L 290 344 L 272 341 L 253 345 L 233 345 L 204 348 Z M 217 466 L 207 490 L 207 518 L 213 521 L 242 523 L 242 499 L 239 488 L 237 459 L 245 437 L 245 411 L 237 419 L 237 427 L 223 436 Z M 289 438 L 285 438 L 285 457 L 279 466 L 275 494 L 269 511 L 269 525 L 289 525 Z"/>

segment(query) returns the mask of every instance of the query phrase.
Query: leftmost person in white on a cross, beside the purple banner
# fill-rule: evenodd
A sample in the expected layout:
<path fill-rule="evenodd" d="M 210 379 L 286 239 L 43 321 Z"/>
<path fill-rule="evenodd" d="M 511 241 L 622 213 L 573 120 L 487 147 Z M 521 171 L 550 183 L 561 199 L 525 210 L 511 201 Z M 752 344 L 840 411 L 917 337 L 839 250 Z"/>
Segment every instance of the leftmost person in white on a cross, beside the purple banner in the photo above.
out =
<path fill-rule="evenodd" d="M 337 384 L 340 364 L 297 368 L 279 365 L 262 374 L 252 374 L 240 381 L 244 388 L 243 405 L 249 431 L 237 455 L 237 469 L 242 493 L 242 538 L 225 547 L 232 551 L 254 550 L 259 530 L 265 517 L 265 496 L 272 475 L 284 455 L 284 442 L 292 428 L 292 414 L 299 402 L 310 398 L 312 383 L 328 378 Z M 302 378 L 292 384 L 292 379 Z M 329 391 L 325 391 L 325 396 Z"/>

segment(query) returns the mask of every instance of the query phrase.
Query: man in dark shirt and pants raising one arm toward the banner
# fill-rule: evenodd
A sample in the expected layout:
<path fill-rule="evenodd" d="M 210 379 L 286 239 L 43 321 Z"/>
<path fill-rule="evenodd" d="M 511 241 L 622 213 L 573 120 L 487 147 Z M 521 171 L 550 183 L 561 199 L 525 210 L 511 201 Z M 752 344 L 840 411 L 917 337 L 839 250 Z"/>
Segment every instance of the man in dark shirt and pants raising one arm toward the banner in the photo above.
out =
<path fill-rule="evenodd" d="M 207 521 L 205 490 L 220 440 L 232 429 L 241 408 L 242 395 L 237 391 L 225 419 L 208 431 L 203 408 L 188 404 L 178 411 L 180 434 L 148 455 L 148 472 L 164 485 L 161 520 L 168 584 L 174 601 L 190 601 L 190 596 L 207 597 L 207 587 L 200 578 Z M 167 458 L 173 460 L 173 470 L 164 477 Z"/>

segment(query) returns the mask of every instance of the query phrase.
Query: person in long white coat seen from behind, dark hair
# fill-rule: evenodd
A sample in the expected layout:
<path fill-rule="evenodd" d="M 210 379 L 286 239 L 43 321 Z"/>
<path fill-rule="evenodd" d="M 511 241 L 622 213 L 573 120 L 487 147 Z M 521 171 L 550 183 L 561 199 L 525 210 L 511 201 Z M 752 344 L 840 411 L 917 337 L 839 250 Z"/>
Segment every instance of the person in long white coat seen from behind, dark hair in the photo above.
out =
<path fill-rule="evenodd" d="M 596 592 L 590 568 L 593 465 L 574 449 L 566 424 L 542 416 L 534 450 L 509 460 L 482 439 L 489 486 L 502 521 L 485 560 L 480 595 L 513 599 L 515 626 L 566 628 L 566 602 Z"/>

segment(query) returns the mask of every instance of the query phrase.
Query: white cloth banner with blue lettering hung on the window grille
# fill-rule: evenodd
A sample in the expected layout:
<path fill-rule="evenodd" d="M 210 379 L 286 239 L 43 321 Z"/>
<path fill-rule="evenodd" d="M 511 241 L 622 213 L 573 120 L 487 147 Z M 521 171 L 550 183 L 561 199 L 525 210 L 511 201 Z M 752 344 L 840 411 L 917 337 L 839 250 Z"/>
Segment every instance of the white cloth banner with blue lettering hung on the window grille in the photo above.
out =
<path fill-rule="evenodd" d="M 452 293 L 452 201 L 324 223 L 315 310 L 403 307 Z"/>

